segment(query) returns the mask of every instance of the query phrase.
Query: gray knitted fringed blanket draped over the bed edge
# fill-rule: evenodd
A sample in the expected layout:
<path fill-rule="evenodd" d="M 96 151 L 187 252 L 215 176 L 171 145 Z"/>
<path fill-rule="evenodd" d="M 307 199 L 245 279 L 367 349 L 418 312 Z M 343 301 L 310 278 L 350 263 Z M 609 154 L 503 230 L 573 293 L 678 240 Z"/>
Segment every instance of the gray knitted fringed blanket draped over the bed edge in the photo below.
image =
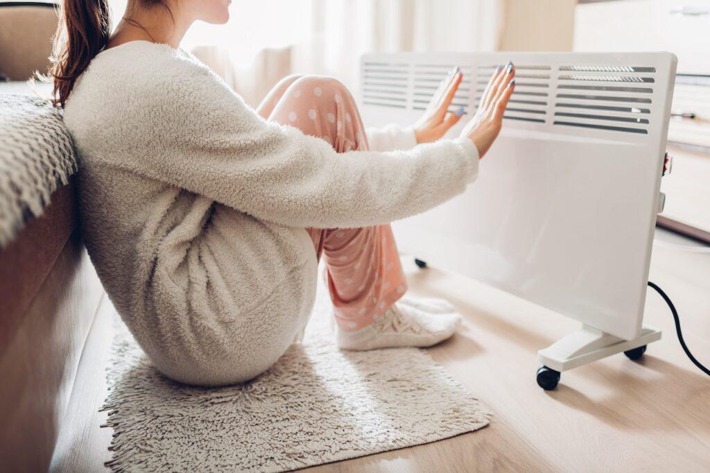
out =
<path fill-rule="evenodd" d="M 0 94 L 0 248 L 42 214 L 76 170 L 60 112 L 43 99 Z"/>

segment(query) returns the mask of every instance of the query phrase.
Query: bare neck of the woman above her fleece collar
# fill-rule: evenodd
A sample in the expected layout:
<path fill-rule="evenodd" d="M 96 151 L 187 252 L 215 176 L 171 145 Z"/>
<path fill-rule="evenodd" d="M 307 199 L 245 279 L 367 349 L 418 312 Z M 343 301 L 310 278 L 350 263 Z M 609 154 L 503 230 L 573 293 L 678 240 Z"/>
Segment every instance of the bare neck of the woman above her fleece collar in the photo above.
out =
<path fill-rule="evenodd" d="M 171 14 L 172 13 L 172 14 Z M 163 6 L 141 7 L 126 10 L 116 30 L 111 35 L 107 48 L 135 40 L 163 43 L 177 49 L 182 37 L 193 23 L 178 11 L 169 11 Z"/>

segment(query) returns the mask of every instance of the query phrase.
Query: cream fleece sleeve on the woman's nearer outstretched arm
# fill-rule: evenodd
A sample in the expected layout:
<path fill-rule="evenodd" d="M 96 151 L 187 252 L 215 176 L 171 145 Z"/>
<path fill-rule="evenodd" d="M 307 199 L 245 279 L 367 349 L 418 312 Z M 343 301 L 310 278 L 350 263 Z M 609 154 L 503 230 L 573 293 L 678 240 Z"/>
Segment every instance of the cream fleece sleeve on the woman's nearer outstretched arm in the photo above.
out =
<path fill-rule="evenodd" d="M 193 65 L 127 107 L 133 156 L 114 163 L 291 227 L 364 227 L 462 192 L 478 172 L 466 138 L 410 151 L 336 153 L 326 141 L 258 116 L 213 72 Z M 149 152 L 148 152 L 149 151 Z"/>

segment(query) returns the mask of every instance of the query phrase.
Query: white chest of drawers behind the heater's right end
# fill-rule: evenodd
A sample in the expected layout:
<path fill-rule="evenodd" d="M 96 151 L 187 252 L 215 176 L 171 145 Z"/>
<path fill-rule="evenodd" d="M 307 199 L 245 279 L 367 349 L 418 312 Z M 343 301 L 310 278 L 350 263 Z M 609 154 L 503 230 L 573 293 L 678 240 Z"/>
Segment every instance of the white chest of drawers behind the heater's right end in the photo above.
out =
<path fill-rule="evenodd" d="M 710 242 L 710 2 L 618 0 L 580 4 L 576 51 L 670 51 L 678 74 L 660 225 Z M 691 115 L 692 114 L 692 117 Z"/>

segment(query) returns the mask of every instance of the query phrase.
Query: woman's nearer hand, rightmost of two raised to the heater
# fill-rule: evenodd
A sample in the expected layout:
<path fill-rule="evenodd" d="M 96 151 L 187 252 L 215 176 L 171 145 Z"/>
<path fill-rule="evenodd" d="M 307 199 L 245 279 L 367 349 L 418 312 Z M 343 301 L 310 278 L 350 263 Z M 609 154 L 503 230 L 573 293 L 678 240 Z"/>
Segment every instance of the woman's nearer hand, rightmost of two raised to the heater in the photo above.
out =
<path fill-rule="evenodd" d="M 503 113 L 506 112 L 513 89 L 515 89 L 515 66 L 512 62 L 508 62 L 503 67 L 498 66 L 496 72 L 493 72 L 481 96 L 476 115 L 461 131 L 461 136 L 474 142 L 479 150 L 479 158 L 484 157 L 501 132 Z"/>

